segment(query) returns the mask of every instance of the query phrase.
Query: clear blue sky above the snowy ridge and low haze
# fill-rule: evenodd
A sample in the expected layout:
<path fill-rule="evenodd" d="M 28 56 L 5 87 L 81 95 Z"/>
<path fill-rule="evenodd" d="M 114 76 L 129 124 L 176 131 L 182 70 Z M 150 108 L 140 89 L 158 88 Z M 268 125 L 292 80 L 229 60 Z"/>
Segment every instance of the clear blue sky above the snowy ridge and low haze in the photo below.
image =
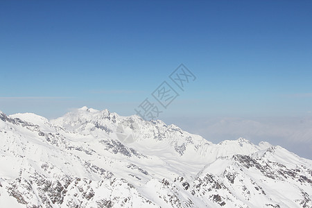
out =
<path fill-rule="evenodd" d="M 0 1 L 6 114 L 135 114 L 180 63 L 196 80 L 164 121 L 311 118 L 312 1 Z"/>

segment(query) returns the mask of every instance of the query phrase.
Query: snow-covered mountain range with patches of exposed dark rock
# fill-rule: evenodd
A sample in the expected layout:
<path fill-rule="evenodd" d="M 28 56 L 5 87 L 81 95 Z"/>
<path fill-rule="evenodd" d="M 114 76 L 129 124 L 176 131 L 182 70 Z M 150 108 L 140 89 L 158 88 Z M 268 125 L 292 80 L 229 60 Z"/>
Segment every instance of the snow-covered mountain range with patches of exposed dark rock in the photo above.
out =
<path fill-rule="evenodd" d="M 0 207 L 312 207 L 311 160 L 139 116 L 0 112 L 0 147 Z"/>

